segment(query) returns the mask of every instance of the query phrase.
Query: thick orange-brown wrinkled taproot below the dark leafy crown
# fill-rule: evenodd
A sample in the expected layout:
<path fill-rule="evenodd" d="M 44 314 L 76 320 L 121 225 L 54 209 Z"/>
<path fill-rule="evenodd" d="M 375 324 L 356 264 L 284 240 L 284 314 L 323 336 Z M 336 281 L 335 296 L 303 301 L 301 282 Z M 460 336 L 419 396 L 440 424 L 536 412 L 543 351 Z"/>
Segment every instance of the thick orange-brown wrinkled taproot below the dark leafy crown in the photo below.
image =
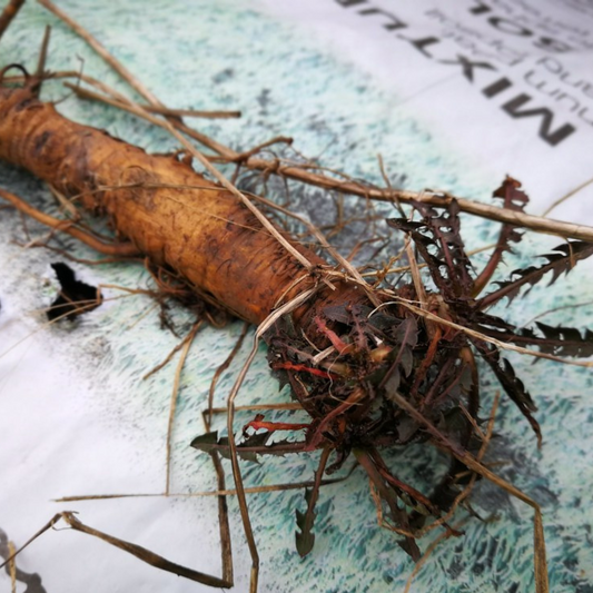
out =
<path fill-rule="evenodd" d="M 170 266 L 238 317 L 259 324 L 289 286 L 306 276 L 237 198 L 176 157 L 147 155 L 72 122 L 26 88 L 0 90 L 0 106 L 1 159 L 65 196 L 80 196 L 86 208 L 106 213 L 118 234 L 155 264 Z M 99 189 L 103 187 L 118 189 Z M 326 265 L 295 247 L 312 264 Z M 297 289 L 312 283 L 306 279 Z"/>

